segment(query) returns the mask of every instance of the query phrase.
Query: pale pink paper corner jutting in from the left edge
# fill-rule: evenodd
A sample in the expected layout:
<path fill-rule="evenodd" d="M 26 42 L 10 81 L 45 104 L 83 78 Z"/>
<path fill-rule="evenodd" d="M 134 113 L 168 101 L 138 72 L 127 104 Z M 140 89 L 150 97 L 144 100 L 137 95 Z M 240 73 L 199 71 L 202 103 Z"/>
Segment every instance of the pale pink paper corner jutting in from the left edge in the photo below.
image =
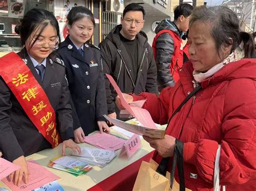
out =
<path fill-rule="evenodd" d="M 21 167 L 0 157 L 0 180 L 10 175 L 14 171 L 17 171 L 19 168 Z"/>

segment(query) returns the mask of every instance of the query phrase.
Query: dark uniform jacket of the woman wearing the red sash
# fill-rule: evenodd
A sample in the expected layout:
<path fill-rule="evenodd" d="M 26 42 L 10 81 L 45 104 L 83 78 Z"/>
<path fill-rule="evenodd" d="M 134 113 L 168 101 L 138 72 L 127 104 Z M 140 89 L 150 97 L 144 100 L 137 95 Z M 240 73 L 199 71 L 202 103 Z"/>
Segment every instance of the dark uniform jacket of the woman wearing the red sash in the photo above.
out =
<path fill-rule="evenodd" d="M 56 112 L 60 137 L 62 140 L 73 138 L 72 108 L 63 61 L 49 55 L 44 80 L 41 82 L 26 49 L 22 49 L 18 55 L 27 62 L 32 74 L 48 96 Z M 45 148 L 51 148 L 51 144 L 38 132 L 0 76 L 0 150 L 4 158 L 13 161 L 21 155 L 30 155 Z"/>

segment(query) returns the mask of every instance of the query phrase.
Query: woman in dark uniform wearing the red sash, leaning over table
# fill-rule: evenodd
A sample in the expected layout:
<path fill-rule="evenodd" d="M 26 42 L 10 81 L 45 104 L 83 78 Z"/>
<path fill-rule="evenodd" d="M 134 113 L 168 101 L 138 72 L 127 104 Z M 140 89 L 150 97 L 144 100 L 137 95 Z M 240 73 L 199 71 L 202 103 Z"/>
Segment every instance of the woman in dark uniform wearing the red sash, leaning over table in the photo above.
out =
<path fill-rule="evenodd" d="M 80 147 L 72 140 L 72 107 L 65 66 L 52 53 L 59 41 L 55 16 L 43 9 L 31 9 L 15 32 L 21 37 L 22 51 L 1 58 L 0 150 L 5 159 L 21 167 L 10 175 L 10 181 L 19 186 L 22 180 L 29 183 L 27 155 L 57 146 L 59 137 L 63 142 L 62 154 L 65 147 L 80 153 Z M 23 75 L 28 79 L 22 82 L 19 77 Z M 19 84 L 14 85 L 16 82 Z M 52 125 L 45 126 L 46 121 Z"/>

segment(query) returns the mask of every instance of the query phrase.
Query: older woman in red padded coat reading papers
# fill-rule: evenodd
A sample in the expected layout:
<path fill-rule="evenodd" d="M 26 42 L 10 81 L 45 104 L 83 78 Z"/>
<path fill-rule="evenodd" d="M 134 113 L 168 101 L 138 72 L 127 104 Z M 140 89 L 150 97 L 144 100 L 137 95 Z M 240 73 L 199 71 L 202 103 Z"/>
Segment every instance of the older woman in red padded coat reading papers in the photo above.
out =
<path fill-rule="evenodd" d="M 250 34 L 239 31 L 235 13 L 224 6 L 196 8 L 190 18 L 188 61 L 180 80 L 159 97 L 124 94 L 127 101 L 144 100 L 153 121 L 166 124 L 180 103 L 202 87 L 171 119 L 164 139 L 144 137 L 156 149 L 154 160 L 172 157 L 174 143 L 184 143 L 186 187 L 212 190 L 214 162 L 220 151 L 220 185 L 226 190 L 256 189 L 256 60 Z M 244 59 L 234 50 L 242 43 Z M 122 108 L 120 100 L 117 105 Z M 175 178 L 178 179 L 177 174 Z"/>

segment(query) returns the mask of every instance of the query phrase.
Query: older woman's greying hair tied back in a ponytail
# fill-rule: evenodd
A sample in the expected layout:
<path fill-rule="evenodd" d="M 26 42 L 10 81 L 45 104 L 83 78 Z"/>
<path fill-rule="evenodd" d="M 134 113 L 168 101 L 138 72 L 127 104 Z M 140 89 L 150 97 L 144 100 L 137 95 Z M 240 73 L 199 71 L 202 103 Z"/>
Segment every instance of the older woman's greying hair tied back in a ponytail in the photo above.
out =
<path fill-rule="evenodd" d="M 211 26 L 211 34 L 219 55 L 221 45 L 232 45 L 231 52 L 233 52 L 241 42 L 243 42 L 245 58 L 251 58 L 253 55 L 253 38 L 249 33 L 240 32 L 238 17 L 231 9 L 225 6 L 211 6 L 209 8 L 199 6 L 193 10 L 190 16 L 190 26 L 197 21 Z M 230 38 L 232 38 L 232 41 Z"/>

